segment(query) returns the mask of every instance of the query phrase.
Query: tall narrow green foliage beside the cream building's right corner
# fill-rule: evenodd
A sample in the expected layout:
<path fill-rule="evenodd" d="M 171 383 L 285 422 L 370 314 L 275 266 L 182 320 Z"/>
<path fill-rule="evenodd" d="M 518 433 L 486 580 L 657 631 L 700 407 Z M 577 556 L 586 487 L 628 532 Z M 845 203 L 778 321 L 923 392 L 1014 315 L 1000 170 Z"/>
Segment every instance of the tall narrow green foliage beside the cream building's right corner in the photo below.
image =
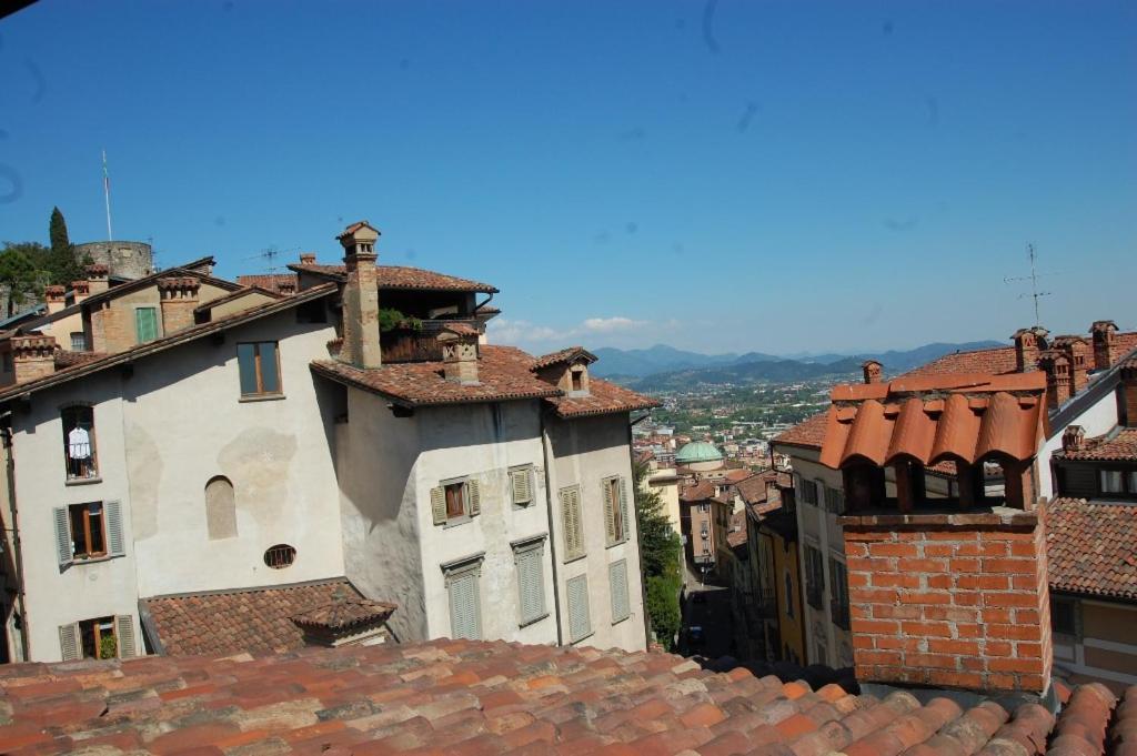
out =
<path fill-rule="evenodd" d="M 663 497 L 645 484 L 648 476 L 647 463 L 636 463 L 633 473 L 640 562 L 647 585 L 647 614 L 656 640 L 670 651 L 682 617 L 679 609 L 682 543 L 663 510 Z"/>

